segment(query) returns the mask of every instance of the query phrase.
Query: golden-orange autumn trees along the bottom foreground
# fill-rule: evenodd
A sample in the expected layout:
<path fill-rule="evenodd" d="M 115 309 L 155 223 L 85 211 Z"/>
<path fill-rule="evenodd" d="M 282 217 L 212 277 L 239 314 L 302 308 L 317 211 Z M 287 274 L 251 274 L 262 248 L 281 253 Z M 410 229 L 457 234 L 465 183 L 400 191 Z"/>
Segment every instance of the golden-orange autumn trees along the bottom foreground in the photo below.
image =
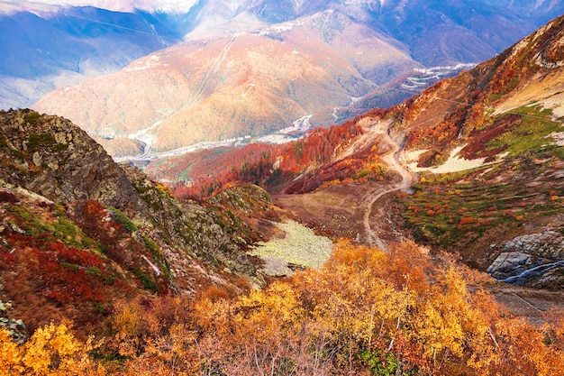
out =
<path fill-rule="evenodd" d="M 68 364 L 75 374 L 122 375 L 562 374 L 562 316 L 531 326 L 504 312 L 482 283 L 414 243 L 385 253 L 341 241 L 321 271 L 245 296 L 218 288 L 195 301 L 120 303 L 100 330 L 96 361 L 92 340 L 77 341 L 67 326 L 41 328 L 22 346 L 3 332 L 1 367 L 25 374 L 37 359 L 43 373 L 35 374 L 67 374 Z M 70 335 L 74 353 L 50 339 L 44 355 L 46 333 Z"/>

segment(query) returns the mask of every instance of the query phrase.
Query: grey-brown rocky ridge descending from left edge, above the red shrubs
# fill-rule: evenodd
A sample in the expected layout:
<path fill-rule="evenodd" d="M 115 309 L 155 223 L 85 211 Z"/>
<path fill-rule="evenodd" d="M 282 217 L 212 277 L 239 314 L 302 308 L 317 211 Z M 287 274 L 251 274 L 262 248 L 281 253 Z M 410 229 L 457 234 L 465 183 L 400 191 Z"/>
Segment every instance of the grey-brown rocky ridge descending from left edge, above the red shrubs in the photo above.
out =
<path fill-rule="evenodd" d="M 158 244 L 179 291 L 193 293 L 202 280 L 227 284 L 234 275 L 262 282 L 244 252 L 247 241 L 219 209 L 172 197 L 66 119 L 0 111 L 0 182 L 66 206 L 89 199 L 123 211 Z"/>

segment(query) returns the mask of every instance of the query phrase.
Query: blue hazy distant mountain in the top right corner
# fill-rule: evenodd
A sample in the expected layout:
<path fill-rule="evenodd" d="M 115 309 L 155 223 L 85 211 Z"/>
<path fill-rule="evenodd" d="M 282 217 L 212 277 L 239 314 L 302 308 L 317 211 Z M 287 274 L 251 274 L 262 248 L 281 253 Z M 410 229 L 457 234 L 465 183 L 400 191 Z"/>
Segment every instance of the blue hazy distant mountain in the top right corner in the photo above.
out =
<path fill-rule="evenodd" d="M 370 7 L 378 24 L 427 67 L 490 59 L 551 18 L 557 1 L 391 0 Z"/>

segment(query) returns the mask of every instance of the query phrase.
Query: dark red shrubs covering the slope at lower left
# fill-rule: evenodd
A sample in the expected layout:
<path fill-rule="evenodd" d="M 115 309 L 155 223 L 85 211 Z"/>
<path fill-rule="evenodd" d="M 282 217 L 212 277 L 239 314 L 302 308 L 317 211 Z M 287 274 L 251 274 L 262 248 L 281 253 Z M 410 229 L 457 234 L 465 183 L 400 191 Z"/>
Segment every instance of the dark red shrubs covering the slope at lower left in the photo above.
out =
<path fill-rule="evenodd" d="M 90 333 L 115 298 L 143 288 L 167 292 L 167 281 L 152 277 L 142 259 L 151 251 L 99 202 L 77 201 L 66 209 L 26 206 L 6 194 L 3 200 L 0 299 L 13 303 L 28 335 L 63 317 Z M 156 282 L 145 286 L 148 276 Z"/>

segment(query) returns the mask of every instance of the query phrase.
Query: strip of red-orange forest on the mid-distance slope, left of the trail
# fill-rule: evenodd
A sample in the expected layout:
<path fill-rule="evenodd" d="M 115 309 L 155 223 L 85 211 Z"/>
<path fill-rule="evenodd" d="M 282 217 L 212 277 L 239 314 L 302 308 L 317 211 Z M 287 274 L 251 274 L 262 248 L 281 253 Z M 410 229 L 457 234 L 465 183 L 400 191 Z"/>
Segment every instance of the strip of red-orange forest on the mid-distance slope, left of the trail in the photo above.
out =
<path fill-rule="evenodd" d="M 357 156 L 350 165 L 330 164 L 339 151 L 362 133 L 358 124 L 349 122 L 315 129 L 295 142 L 281 145 L 251 143 L 242 148 L 199 151 L 171 159 L 166 165 L 161 162 L 150 164 L 146 170 L 153 179 L 177 182 L 172 187 L 177 197 L 206 197 L 232 181 L 281 190 L 287 181 L 305 170 L 323 166 L 323 179 L 309 179 L 304 183 L 305 187 L 290 188 L 293 192 L 311 191 L 324 181 L 352 177 L 363 167 L 366 160 L 362 158 L 366 155 Z M 189 179 L 189 183 L 183 179 Z"/>

